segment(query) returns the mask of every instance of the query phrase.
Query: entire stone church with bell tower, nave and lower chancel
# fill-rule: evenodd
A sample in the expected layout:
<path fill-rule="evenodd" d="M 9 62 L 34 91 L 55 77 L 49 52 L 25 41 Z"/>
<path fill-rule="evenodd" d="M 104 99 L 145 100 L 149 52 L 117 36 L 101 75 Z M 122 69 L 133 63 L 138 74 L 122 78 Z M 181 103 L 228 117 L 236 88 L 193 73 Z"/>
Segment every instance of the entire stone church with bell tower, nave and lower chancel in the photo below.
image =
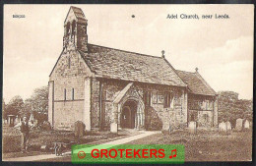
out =
<path fill-rule="evenodd" d="M 218 125 L 215 90 L 194 73 L 175 70 L 164 58 L 88 42 L 88 21 L 71 7 L 63 50 L 49 76 L 48 121 L 56 130 L 174 130 L 196 121 Z"/>

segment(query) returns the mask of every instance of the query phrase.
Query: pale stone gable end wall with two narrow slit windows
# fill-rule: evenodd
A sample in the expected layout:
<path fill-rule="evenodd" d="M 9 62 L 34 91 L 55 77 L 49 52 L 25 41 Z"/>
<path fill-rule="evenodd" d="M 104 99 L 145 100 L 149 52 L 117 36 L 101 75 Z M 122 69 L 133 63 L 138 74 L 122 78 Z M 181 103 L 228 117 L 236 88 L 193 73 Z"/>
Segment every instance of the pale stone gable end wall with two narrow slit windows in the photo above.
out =
<path fill-rule="evenodd" d="M 49 109 L 53 122 L 50 122 L 58 130 L 73 130 L 76 121 L 83 121 L 85 78 L 91 75 L 75 47 L 68 48 L 63 51 L 50 75 L 50 83 L 54 84 L 53 104 Z M 49 98 L 49 103 L 52 99 Z"/>

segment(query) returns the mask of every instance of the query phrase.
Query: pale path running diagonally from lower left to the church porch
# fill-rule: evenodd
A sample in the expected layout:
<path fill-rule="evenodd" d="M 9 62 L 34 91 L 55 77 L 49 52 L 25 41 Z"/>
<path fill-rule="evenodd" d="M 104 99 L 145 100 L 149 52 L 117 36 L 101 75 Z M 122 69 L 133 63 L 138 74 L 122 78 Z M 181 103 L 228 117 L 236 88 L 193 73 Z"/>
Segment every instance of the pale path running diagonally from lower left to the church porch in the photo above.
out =
<path fill-rule="evenodd" d="M 131 136 L 128 138 L 120 138 L 120 139 L 115 139 L 112 141 L 108 141 L 102 144 L 113 144 L 118 145 L 118 144 L 124 144 L 139 138 L 145 138 L 151 135 L 156 134 L 156 132 L 142 132 L 142 134 L 136 135 L 136 136 Z M 90 148 L 96 148 L 98 145 L 93 146 L 93 147 L 88 147 L 86 150 L 90 150 Z M 83 149 L 84 150 L 84 149 Z M 64 153 L 63 155 L 71 154 L 71 151 L 68 151 Z M 39 161 L 39 160 L 46 160 L 46 159 L 52 159 L 52 158 L 59 158 L 63 156 L 56 156 L 55 154 L 42 154 L 42 155 L 34 155 L 34 156 L 26 156 L 26 157 L 17 157 L 17 158 L 5 158 L 3 161 Z"/>

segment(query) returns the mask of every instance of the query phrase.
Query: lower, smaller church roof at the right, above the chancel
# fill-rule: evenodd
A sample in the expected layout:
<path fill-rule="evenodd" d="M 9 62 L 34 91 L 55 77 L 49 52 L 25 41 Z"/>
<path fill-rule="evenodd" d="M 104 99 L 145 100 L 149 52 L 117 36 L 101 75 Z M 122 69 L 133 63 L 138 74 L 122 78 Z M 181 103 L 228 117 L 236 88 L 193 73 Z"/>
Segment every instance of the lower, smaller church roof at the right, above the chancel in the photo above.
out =
<path fill-rule="evenodd" d="M 187 83 L 190 92 L 202 95 L 216 95 L 216 91 L 198 73 L 176 70 L 178 76 Z"/>

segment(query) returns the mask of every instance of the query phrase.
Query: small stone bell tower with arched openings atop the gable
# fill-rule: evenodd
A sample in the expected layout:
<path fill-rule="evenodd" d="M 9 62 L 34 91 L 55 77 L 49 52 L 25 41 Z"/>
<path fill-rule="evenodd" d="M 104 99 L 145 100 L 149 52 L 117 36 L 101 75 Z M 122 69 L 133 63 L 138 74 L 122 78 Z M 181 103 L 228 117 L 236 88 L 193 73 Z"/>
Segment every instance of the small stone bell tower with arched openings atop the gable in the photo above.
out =
<path fill-rule="evenodd" d="M 78 49 L 88 51 L 88 21 L 82 9 L 71 6 L 64 22 L 64 49 Z"/>

